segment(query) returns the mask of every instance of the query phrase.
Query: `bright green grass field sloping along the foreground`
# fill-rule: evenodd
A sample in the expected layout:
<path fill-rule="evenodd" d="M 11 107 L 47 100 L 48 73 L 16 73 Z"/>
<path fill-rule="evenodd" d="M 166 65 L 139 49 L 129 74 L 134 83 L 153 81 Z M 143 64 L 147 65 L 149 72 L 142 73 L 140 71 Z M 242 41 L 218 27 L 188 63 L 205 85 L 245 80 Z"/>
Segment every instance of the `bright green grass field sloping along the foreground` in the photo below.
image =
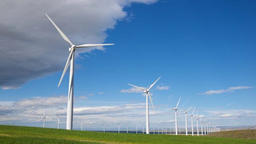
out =
<path fill-rule="evenodd" d="M 254 139 L 87 132 L 0 125 L 0 144 L 256 144 Z"/>

